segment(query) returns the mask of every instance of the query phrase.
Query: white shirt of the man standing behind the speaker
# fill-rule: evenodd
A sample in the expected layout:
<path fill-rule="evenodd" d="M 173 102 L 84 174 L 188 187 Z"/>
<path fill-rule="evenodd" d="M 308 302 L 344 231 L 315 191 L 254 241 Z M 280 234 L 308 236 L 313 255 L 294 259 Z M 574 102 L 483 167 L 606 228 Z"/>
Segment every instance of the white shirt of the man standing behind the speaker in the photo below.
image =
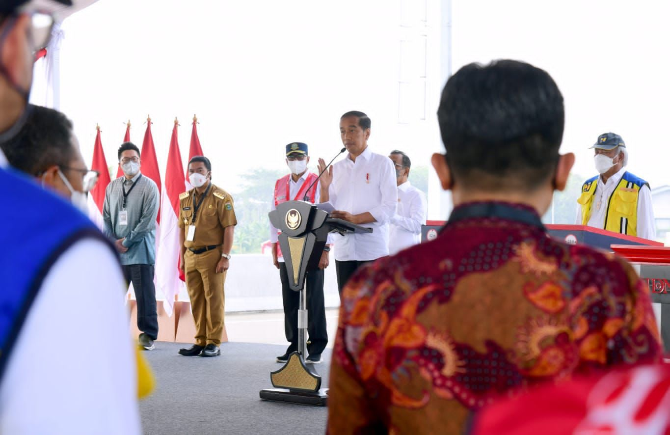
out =
<path fill-rule="evenodd" d="M 391 218 L 389 255 L 421 241 L 421 225 L 428 211 L 425 194 L 409 183 L 398 186 L 398 208 Z"/>

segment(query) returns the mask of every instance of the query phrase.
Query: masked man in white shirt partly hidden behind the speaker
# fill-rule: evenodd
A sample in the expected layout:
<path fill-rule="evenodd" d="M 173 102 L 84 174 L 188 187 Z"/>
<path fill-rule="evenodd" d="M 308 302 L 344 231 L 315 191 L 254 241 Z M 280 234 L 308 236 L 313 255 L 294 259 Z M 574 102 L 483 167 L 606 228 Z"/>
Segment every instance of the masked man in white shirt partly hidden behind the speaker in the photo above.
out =
<path fill-rule="evenodd" d="M 421 241 L 421 225 L 425 225 L 428 207 L 425 194 L 408 180 L 411 160 L 407 154 L 394 149 L 389 159 L 395 167 L 398 184 L 398 206 L 391 217 L 389 232 L 389 255 L 394 255 Z"/>

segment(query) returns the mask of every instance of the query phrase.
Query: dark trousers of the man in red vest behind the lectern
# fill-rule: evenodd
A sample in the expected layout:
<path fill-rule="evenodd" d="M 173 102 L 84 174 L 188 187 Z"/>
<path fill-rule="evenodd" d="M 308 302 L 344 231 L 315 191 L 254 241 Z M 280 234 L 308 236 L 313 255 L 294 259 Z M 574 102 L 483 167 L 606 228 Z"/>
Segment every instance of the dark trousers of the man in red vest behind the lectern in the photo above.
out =
<path fill-rule="evenodd" d="M 297 310 L 300 306 L 300 292 L 289 288 L 289 276 L 286 265 L 279 263 L 281 278 L 281 296 L 284 301 L 284 329 L 286 340 L 291 343 L 287 351 L 297 351 Z M 321 355 L 328 344 L 326 330 L 326 308 L 324 307 L 324 271 L 323 269 L 307 271 L 305 277 L 307 292 L 307 332 L 309 343 L 307 351 L 310 355 Z"/>

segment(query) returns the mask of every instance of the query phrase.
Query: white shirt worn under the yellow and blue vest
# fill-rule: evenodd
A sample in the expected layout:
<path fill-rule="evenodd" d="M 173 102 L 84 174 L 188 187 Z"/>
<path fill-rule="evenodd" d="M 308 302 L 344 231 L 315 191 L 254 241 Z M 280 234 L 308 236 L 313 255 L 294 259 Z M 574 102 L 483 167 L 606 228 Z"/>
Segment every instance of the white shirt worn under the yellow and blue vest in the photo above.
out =
<path fill-rule="evenodd" d="M 588 220 L 589 227 L 605 228 L 605 215 L 607 214 L 608 201 L 614 192 L 616 186 L 621 181 L 621 177 L 626 172 L 626 168 L 621 168 L 615 172 L 607 182 L 602 182 L 602 177 L 598 177 L 596 192 L 594 192 L 593 202 L 591 203 L 591 217 Z M 596 204 L 601 202 L 600 210 Z M 577 218 L 575 223 L 582 224 L 582 206 L 577 208 Z M 656 223 L 654 222 L 654 210 L 651 204 L 651 190 L 649 186 L 642 186 L 637 198 L 637 237 L 653 240 L 656 237 Z"/>

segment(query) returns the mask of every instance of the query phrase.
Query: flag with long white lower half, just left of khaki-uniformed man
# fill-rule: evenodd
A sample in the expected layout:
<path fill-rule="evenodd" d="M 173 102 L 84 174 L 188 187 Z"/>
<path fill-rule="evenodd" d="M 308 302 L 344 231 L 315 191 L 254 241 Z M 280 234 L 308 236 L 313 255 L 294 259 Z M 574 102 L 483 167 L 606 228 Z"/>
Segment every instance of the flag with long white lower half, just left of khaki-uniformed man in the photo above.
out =
<path fill-rule="evenodd" d="M 172 316 L 175 296 L 184 288 L 184 283 L 180 280 L 181 247 L 178 227 L 179 195 L 184 192 L 184 165 L 182 153 L 179 151 L 177 127 L 175 119 L 170 150 L 167 153 L 165 188 L 161 194 L 161 234 L 158 243 L 161 249 L 156 253 L 156 284 L 165 296 L 163 308 L 168 316 Z"/>

